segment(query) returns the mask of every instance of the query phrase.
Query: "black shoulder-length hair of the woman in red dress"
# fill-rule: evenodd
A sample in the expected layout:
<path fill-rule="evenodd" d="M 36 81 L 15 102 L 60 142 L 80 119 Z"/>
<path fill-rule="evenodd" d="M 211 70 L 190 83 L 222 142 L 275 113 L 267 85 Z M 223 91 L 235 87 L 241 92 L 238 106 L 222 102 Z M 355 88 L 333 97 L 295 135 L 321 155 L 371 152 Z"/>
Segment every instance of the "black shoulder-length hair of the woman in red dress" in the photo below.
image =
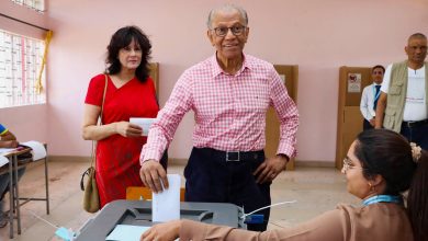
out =
<path fill-rule="evenodd" d="M 122 65 L 119 60 L 119 50 L 128 46 L 133 39 L 143 51 L 142 64 L 135 70 L 135 76 L 140 82 L 145 82 L 149 76 L 148 60 L 151 58 L 151 44 L 147 35 L 137 26 L 125 26 L 113 34 L 108 46 L 106 72 L 115 74 L 121 71 Z"/>

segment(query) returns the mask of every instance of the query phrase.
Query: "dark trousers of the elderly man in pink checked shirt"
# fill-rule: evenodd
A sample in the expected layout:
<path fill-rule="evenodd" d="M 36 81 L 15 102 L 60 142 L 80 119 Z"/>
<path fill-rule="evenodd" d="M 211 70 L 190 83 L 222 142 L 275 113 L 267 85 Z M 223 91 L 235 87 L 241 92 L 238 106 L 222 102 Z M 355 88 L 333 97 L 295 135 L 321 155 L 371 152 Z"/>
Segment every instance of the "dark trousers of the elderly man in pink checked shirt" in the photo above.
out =
<path fill-rule="evenodd" d="M 232 203 L 244 207 L 246 214 L 269 206 L 270 184 L 257 184 L 256 171 L 264 161 L 264 152 L 240 157 L 239 161 L 226 161 L 225 152 L 211 148 L 193 148 L 184 169 L 185 200 L 204 203 Z M 247 225 L 248 230 L 264 231 L 270 209 L 256 214 L 264 215 L 264 222 Z"/>

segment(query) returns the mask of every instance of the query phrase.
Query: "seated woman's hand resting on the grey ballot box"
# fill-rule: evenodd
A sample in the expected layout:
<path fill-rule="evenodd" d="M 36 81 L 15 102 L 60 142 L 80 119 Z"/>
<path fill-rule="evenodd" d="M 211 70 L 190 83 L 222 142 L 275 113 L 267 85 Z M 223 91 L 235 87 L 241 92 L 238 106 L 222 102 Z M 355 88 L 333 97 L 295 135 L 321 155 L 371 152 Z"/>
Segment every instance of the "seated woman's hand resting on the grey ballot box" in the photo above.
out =
<path fill-rule="evenodd" d="M 151 227 L 142 234 L 140 241 L 170 241 L 180 236 L 181 220 L 169 221 Z"/>

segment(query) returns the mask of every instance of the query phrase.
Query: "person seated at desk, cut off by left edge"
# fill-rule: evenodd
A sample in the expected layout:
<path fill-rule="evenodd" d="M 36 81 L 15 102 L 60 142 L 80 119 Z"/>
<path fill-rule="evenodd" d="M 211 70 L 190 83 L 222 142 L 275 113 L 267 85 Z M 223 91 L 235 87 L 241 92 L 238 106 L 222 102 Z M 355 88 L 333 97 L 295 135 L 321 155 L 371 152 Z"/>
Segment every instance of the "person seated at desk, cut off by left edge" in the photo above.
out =
<path fill-rule="evenodd" d="M 16 137 L 3 125 L 0 124 L 0 148 L 16 148 L 19 142 Z M 18 179 L 24 174 L 25 169 L 18 170 Z M 8 217 L 3 213 L 3 198 L 7 192 L 9 192 L 9 173 L 0 175 L 0 228 L 8 225 Z"/>

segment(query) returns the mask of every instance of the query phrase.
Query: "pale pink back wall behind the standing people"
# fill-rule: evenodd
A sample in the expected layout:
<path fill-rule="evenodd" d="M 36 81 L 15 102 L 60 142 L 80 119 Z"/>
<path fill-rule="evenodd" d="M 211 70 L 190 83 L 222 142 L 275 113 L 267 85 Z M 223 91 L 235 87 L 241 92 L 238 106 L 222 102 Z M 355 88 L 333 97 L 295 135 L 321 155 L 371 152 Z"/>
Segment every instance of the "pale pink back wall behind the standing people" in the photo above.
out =
<path fill-rule="evenodd" d="M 214 53 L 206 38 L 206 15 L 218 0 L 55 0 L 49 1 L 54 30 L 48 59 L 48 105 L 37 129 L 52 154 L 89 156 L 80 137 L 83 101 L 90 78 L 104 69 L 105 47 L 119 27 L 140 26 L 160 64 L 160 104 L 188 67 Z M 405 58 L 415 32 L 428 34 L 428 0 L 268 0 L 234 1 L 249 14 L 245 51 L 273 64 L 299 65 L 297 148 L 301 161 L 335 159 L 339 67 L 387 65 Z M 0 110 L 1 119 L 3 111 Z M 21 111 L 8 111 L 8 124 Z M 191 150 L 193 115 L 180 124 L 171 158 Z M 34 126 L 36 128 L 36 126 Z"/>

